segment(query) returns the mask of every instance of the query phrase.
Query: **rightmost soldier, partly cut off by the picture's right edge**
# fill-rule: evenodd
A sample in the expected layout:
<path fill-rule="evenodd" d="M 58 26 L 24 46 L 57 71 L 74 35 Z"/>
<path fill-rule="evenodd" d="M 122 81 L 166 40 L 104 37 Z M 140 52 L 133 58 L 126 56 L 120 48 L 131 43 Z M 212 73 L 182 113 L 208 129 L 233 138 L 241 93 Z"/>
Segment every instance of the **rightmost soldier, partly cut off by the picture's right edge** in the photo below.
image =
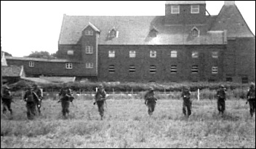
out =
<path fill-rule="evenodd" d="M 249 102 L 249 113 L 251 114 L 251 116 L 253 116 L 253 114 L 255 113 L 255 85 L 254 84 L 250 86 L 250 89 L 247 93 L 247 99 Z"/>

